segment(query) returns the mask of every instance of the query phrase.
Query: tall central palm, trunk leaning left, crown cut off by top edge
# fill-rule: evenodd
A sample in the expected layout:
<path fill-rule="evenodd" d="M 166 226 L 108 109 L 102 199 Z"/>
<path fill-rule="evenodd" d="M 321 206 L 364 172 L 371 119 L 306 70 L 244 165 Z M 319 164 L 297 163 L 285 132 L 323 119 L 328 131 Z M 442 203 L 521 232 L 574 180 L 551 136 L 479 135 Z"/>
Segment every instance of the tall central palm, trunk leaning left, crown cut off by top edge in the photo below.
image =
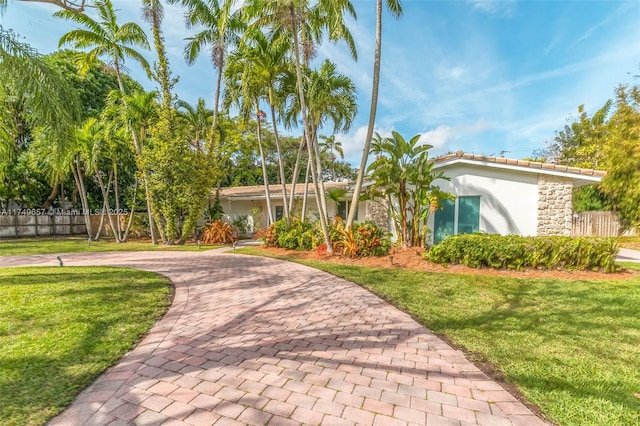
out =
<path fill-rule="evenodd" d="M 305 101 L 303 70 L 301 55 L 303 43 L 315 44 L 319 42 L 323 36 L 323 30 L 326 30 L 327 36 L 331 41 L 345 40 L 350 47 L 351 53 L 356 57 L 355 43 L 345 25 L 344 14 L 348 13 L 355 18 L 355 9 L 349 0 L 319 0 L 313 6 L 309 0 L 251 0 L 247 2 L 246 11 L 250 18 L 255 18 L 253 26 L 257 28 L 271 28 L 272 30 L 281 29 L 291 36 L 293 41 L 293 56 L 296 65 L 296 86 L 298 91 L 298 99 L 300 102 L 300 111 L 302 114 L 302 124 L 304 128 L 304 137 L 306 146 L 312 149 L 313 139 L 311 137 L 311 128 L 307 119 L 307 105 Z M 300 35 L 303 36 L 303 43 L 300 41 Z M 308 49 L 305 49 L 305 52 Z M 305 59 L 307 56 L 305 56 Z M 317 182 L 317 176 L 320 174 L 317 170 L 315 162 L 311 162 L 311 176 L 314 183 Z M 316 183 L 317 184 L 317 183 Z M 318 196 L 318 191 L 316 191 Z M 329 237 L 329 228 L 326 219 L 326 209 L 322 211 L 319 203 L 320 226 L 325 238 L 327 250 L 331 252 L 331 239 Z"/>

